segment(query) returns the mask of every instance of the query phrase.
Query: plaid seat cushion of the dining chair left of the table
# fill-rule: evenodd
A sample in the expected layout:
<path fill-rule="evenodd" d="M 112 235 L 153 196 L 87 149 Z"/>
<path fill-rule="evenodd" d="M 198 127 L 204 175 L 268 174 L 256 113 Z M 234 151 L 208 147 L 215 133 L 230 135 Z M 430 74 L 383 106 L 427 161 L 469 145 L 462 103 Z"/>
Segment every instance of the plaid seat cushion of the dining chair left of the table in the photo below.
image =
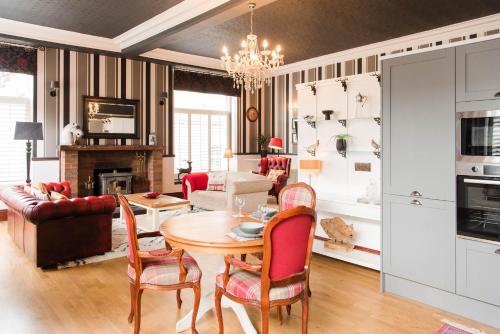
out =
<path fill-rule="evenodd" d="M 151 251 L 151 254 L 161 255 L 165 250 Z M 182 263 L 186 268 L 186 282 L 196 282 L 201 278 L 201 270 L 189 254 L 184 253 Z M 130 264 L 128 265 L 128 277 L 135 279 L 135 269 Z M 152 285 L 172 285 L 179 282 L 179 265 L 175 257 L 166 259 L 143 259 L 142 260 L 142 284 Z"/>

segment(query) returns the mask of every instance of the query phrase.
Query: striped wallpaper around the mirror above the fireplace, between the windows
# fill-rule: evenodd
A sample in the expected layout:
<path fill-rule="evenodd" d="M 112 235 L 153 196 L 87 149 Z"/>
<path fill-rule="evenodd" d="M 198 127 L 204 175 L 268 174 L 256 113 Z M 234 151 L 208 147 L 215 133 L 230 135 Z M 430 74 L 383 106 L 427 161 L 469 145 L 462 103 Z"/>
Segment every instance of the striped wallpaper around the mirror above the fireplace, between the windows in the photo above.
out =
<path fill-rule="evenodd" d="M 157 143 L 171 152 L 169 103 L 160 94 L 169 88 L 171 66 L 86 52 L 42 48 L 37 58 L 36 120 L 44 123 L 45 140 L 38 142 L 37 157 L 57 157 L 59 134 L 69 122 L 82 124 L 83 95 L 140 100 L 139 139 L 84 139 L 88 145 Z M 49 95 L 51 80 L 59 81 L 57 96 Z M 172 122 L 170 122 L 172 123 Z"/>

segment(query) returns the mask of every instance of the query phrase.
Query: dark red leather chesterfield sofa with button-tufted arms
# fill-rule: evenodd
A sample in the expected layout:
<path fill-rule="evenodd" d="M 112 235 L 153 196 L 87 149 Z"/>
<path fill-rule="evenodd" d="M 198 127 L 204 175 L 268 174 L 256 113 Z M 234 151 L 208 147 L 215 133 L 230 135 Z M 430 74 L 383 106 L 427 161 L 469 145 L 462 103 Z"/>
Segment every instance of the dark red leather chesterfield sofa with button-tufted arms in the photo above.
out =
<path fill-rule="evenodd" d="M 71 196 L 69 183 L 48 183 L 48 190 Z M 8 231 L 37 267 L 111 250 L 111 195 L 42 201 L 12 186 L 0 191 L 7 205 Z"/>

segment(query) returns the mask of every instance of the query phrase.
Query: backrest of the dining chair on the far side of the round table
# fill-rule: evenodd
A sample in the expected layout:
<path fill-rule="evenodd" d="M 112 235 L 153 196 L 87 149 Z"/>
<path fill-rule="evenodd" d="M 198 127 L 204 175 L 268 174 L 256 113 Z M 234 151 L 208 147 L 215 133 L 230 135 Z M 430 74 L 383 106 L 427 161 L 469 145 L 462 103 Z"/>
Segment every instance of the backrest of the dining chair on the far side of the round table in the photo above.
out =
<path fill-rule="evenodd" d="M 311 209 L 316 208 L 316 192 L 304 183 L 292 183 L 281 189 L 278 195 L 279 210 L 284 211 L 298 206 L 306 206 Z"/>

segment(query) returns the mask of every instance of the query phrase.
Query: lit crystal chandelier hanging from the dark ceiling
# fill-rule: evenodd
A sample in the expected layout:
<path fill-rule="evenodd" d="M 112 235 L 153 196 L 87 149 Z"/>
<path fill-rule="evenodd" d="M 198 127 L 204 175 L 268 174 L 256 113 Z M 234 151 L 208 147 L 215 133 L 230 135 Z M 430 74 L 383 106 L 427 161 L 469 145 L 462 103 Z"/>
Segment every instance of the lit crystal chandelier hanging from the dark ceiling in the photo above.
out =
<path fill-rule="evenodd" d="M 283 65 L 281 47 L 269 50 L 266 40 L 262 42 L 263 50 L 259 50 L 257 35 L 253 33 L 253 10 L 255 3 L 248 4 L 250 8 L 250 34 L 241 42 L 241 50 L 234 57 L 229 55 L 227 47 L 222 48 L 222 67 L 233 77 L 236 88 L 244 87 L 252 93 L 271 82 L 271 73 Z"/>

